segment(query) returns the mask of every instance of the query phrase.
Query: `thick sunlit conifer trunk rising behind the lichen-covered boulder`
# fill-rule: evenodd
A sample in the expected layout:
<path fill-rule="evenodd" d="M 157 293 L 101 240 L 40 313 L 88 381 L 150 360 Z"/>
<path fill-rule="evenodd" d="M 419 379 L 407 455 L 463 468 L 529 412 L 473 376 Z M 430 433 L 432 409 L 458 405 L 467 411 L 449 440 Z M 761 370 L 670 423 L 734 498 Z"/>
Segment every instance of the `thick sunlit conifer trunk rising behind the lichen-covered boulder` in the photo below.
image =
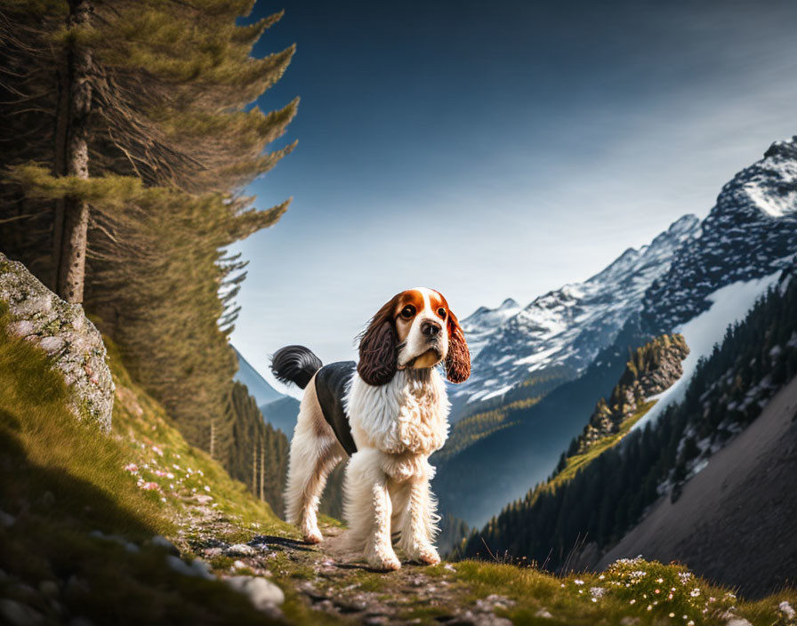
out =
<path fill-rule="evenodd" d="M 69 0 L 68 27 L 85 27 L 91 19 L 88 0 Z M 88 116 L 92 108 L 92 54 L 81 44 L 72 44 L 68 52 L 67 84 L 62 95 L 68 98 L 66 132 L 57 133 L 65 142 L 64 174 L 85 181 L 89 178 Z M 60 151 L 61 147 L 57 147 Z M 89 225 L 89 205 L 76 197 L 64 199 L 62 215 L 56 210 L 54 244 L 60 242 L 57 259 L 57 292 L 68 302 L 83 301 L 85 251 Z M 58 223 L 58 219 L 62 221 Z"/>

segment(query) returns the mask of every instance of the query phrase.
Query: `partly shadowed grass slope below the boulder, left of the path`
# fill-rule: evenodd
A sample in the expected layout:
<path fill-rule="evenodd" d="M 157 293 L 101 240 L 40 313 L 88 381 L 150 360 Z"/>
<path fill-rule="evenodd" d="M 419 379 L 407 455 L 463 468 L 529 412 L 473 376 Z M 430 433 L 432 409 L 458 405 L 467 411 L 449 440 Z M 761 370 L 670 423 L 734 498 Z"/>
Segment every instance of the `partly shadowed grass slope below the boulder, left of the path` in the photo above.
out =
<path fill-rule="evenodd" d="M 152 542 L 154 535 L 176 530 L 178 496 L 195 488 L 209 486 L 221 510 L 245 523 L 257 519 L 282 528 L 268 506 L 245 497 L 243 486 L 190 449 L 149 398 L 127 398 L 128 408 L 139 403 L 135 420 L 117 401 L 113 437 L 77 421 L 68 409 L 71 391 L 50 358 L 8 336 L 7 323 L 0 311 L 3 606 L 17 603 L 33 612 L 31 622 L 269 622 L 222 582 L 174 572 L 166 566 L 167 552 Z M 118 365 L 115 371 L 121 373 L 117 384 L 128 381 Z M 148 445 L 142 448 L 133 438 L 144 432 L 151 442 L 147 452 Z M 153 445 L 162 448 L 162 457 L 154 455 L 164 464 L 196 468 L 175 497 L 141 488 L 149 474 L 125 470 L 132 458 L 149 459 Z"/>

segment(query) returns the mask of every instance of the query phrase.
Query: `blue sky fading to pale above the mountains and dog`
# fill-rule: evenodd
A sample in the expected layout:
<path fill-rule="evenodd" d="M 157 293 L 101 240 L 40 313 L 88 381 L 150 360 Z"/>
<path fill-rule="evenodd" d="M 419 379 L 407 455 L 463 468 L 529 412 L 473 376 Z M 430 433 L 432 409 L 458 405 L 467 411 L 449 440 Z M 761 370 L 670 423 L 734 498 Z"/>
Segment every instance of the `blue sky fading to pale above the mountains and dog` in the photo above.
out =
<path fill-rule="evenodd" d="M 263 374 L 288 343 L 354 358 L 408 287 L 465 317 L 584 280 L 797 133 L 797 3 L 259 0 L 250 20 L 281 8 L 254 54 L 297 52 L 258 105 L 300 96 L 273 147 L 299 144 L 247 192 L 294 201 L 235 247 L 232 341 Z"/>

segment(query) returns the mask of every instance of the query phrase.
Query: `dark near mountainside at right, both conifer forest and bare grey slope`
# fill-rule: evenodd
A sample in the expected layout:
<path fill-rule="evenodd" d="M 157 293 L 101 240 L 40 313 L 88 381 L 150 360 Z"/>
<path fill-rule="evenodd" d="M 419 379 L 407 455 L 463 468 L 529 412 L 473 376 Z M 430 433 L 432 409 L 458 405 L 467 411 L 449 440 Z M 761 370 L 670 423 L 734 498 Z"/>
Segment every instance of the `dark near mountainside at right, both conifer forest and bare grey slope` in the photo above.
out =
<path fill-rule="evenodd" d="M 460 556 L 487 543 L 579 571 L 641 552 L 748 593 L 780 588 L 797 563 L 795 403 L 797 264 L 698 363 L 679 402 L 505 507 Z"/>

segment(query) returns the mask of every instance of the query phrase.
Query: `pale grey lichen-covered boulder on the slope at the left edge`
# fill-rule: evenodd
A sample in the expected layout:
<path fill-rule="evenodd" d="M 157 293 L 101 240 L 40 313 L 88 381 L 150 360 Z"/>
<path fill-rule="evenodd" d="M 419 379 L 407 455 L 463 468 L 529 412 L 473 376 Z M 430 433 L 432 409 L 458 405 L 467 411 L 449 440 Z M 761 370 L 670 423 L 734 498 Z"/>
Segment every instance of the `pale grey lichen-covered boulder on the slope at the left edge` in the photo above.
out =
<path fill-rule="evenodd" d="M 62 301 L 24 265 L 0 253 L 0 308 L 8 309 L 8 331 L 44 349 L 64 374 L 73 413 L 109 432 L 114 383 L 101 334 L 83 307 Z"/>

